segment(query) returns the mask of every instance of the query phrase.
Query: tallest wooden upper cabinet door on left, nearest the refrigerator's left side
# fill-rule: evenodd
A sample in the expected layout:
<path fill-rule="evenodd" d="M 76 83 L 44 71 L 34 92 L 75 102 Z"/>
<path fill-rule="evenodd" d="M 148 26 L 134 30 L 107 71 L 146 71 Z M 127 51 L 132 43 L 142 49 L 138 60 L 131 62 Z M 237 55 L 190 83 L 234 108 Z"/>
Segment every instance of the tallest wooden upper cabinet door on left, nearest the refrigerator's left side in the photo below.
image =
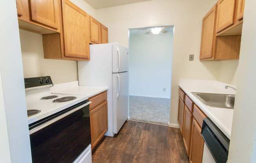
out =
<path fill-rule="evenodd" d="M 62 1 L 66 57 L 90 59 L 90 17 L 69 0 Z"/>

